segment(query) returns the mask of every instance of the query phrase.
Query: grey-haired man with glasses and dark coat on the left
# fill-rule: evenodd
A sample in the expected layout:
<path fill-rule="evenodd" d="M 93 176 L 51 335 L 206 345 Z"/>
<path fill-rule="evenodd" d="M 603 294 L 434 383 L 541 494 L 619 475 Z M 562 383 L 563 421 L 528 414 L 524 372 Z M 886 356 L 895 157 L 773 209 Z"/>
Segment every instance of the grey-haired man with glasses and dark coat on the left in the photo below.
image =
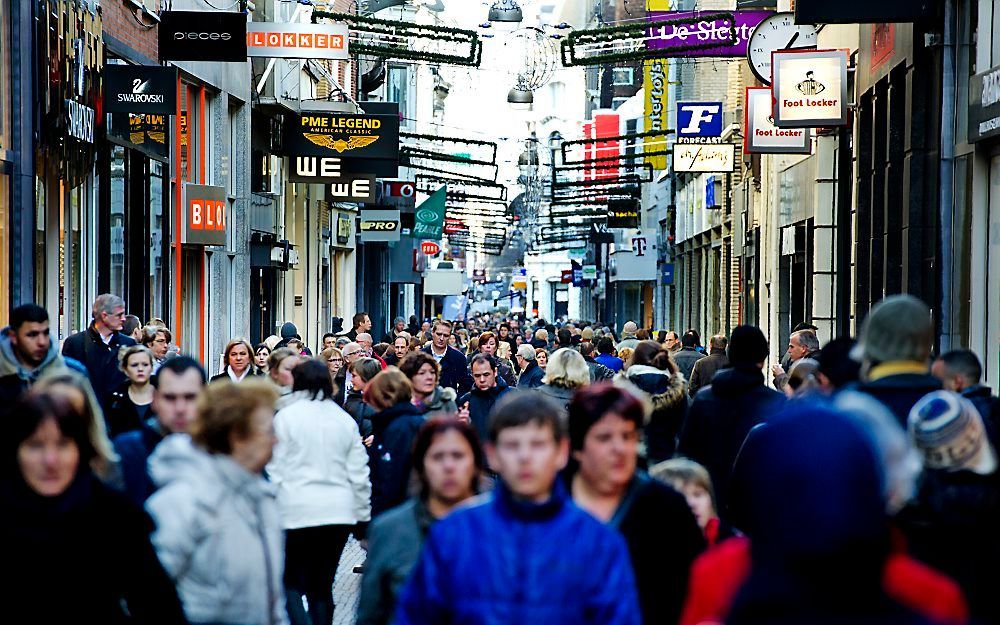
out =
<path fill-rule="evenodd" d="M 122 334 L 125 325 L 125 300 L 104 293 L 94 300 L 93 321 L 82 332 L 63 343 L 63 356 L 74 358 L 87 367 L 90 386 L 101 407 L 107 410 L 112 391 L 121 386 L 125 374 L 118 367 L 118 350 L 135 345 L 135 340 Z"/>

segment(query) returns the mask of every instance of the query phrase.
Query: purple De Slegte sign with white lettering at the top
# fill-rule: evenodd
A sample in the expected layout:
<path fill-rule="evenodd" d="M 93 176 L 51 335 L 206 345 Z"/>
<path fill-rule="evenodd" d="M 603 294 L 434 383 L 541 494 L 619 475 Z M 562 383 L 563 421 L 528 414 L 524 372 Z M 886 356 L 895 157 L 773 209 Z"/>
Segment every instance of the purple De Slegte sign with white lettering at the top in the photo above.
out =
<path fill-rule="evenodd" d="M 646 47 L 663 50 L 664 56 L 680 57 L 739 57 L 746 56 L 747 42 L 757 24 L 773 14 L 773 11 L 733 11 L 735 23 L 726 17 L 699 20 L 697 11 L 649 11 L 646 19 L 650 22 L 669 20 L 691 20 L 669 26 L 650 29 Z M 691 49 L 692 44 L 717 41 L 711 48 Z"/>

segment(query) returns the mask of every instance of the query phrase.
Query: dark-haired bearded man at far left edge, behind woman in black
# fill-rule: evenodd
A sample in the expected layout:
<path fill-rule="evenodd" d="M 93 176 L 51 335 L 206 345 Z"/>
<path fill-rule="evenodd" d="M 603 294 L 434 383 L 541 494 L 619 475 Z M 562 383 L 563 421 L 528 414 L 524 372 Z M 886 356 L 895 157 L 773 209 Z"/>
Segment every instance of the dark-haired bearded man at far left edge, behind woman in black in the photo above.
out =
<path fill-rule="evenodd" d="M 0 420 L 40 377 L 66 370 L 49 334 L 49 313 L 37 304 L 11 311 L 10 325 L 0 330 Z"/>

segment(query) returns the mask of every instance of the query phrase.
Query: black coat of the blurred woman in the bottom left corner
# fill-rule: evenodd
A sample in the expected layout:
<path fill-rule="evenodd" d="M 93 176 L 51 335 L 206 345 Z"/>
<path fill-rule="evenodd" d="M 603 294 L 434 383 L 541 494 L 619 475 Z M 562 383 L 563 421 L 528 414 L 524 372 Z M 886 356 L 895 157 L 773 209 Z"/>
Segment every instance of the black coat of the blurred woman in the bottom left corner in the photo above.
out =
<path fill-rule="evenodd" d="M 187 622 L 150 543 L 152 521 L 89 471 L 51 498 L 38 496 L 19 477 L 4 481 L 0 509 L 4 564 L 11 573 L 0 590 L 4 622 Z"/>

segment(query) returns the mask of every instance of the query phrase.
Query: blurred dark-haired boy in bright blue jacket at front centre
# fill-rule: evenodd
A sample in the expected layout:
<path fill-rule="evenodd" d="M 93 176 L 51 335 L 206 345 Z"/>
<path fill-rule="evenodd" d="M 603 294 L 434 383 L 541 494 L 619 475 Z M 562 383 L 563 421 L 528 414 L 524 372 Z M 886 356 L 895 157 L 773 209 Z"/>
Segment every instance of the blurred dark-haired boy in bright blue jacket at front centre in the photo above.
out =
<path fill-rule="evenodd" d="M 624 539 L 576 507 L 556 474 L 569 450 L 560 409 L 511 392 L 490 420 L 494 491 L 431 529 L 397 625 L 639 625 Z"/>

